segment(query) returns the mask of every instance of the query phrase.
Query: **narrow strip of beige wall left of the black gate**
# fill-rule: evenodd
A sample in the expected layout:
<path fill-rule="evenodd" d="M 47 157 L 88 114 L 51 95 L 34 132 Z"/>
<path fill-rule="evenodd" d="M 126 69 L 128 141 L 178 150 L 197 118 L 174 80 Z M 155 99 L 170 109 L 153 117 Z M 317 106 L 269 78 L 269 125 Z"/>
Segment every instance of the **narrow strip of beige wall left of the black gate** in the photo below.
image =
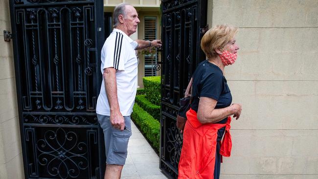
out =
<path fill-rule="evenodd" d="M 11 31 L 9 0 L 0 4 L 0 179 L 23 179 L 12 41 L 3 40 L 3 30 Z"/>

